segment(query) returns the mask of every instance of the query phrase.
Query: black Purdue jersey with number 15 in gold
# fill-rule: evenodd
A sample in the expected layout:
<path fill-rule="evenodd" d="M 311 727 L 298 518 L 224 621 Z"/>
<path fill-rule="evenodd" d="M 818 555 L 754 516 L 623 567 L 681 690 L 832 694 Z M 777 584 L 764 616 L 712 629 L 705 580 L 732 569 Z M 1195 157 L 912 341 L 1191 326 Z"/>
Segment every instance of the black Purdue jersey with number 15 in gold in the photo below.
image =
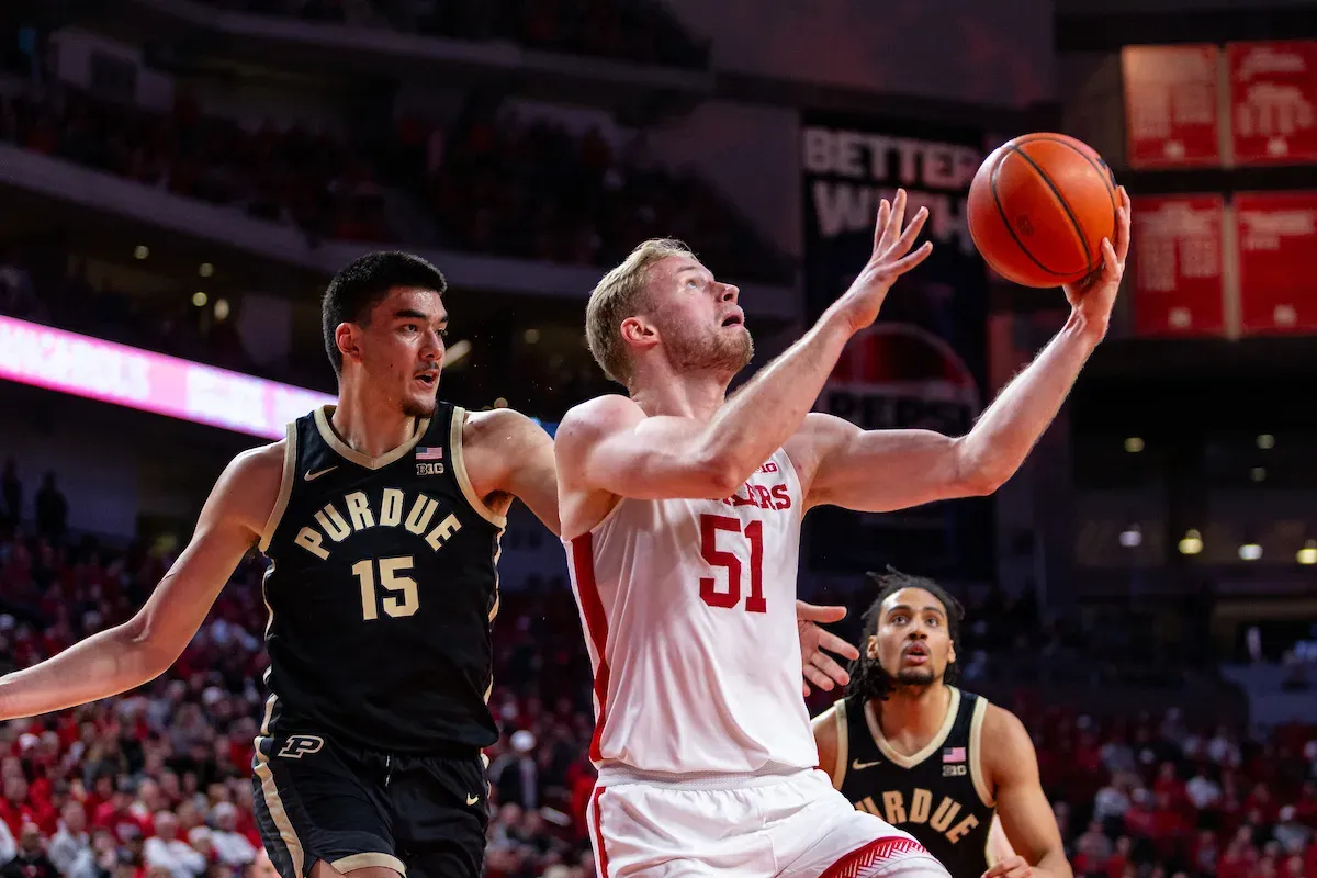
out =
<path fill-rule="evenodd" d="M 464 412 L 440 403 L 412 440 L 377 458 L 337 437 L 332 412 L 288 425 L 283 487 L 261 540 L 271 561 L 261 733 L 417 754 L 489 746 L 506 520 L 466 478 Z"/>

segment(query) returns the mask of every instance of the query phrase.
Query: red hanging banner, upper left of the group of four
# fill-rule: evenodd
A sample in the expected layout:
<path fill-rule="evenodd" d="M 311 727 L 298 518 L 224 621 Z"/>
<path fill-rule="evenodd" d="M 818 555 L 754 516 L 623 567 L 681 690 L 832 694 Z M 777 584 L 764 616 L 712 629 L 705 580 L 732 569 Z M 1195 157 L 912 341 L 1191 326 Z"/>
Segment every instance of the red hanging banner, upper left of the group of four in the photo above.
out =
<path fill-rule="evenodd" d="M 1221 50 L 1217 46 L 1126 46 L 1125 128 L 1130 167 L 1218 165 Z"/>

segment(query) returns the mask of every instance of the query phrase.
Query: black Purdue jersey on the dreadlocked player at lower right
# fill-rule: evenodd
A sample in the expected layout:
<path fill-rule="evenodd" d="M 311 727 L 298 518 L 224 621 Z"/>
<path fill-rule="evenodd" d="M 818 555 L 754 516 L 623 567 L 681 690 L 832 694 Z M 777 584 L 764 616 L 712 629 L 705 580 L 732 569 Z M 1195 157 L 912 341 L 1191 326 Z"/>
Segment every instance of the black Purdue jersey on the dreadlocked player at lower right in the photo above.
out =
<path fill-rule="evenodd" d="M 980 736 L 988 700 L 951 688 L 942 729 L 923 750 L 902 756 L 869 720 L 863 700 L 836 703 L 832 783 L 857 811 L 876 813 L 913 835 L 952 878 L 988 870 L 988 831 L 996 811 L 980 769 Z"/>

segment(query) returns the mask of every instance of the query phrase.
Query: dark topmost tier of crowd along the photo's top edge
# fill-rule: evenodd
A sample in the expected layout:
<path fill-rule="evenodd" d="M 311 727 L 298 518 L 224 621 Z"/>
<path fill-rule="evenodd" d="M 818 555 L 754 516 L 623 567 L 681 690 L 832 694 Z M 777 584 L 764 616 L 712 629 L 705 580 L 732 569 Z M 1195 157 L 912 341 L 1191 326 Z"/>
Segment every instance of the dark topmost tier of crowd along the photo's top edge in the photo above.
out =
<path fill-rule="evenodd" d="M 204 0 L 234 12 L 389 26 L 453 39 L 507 39 L 543 51 L 705 68 L 709 47 L 657 0 Z"/>

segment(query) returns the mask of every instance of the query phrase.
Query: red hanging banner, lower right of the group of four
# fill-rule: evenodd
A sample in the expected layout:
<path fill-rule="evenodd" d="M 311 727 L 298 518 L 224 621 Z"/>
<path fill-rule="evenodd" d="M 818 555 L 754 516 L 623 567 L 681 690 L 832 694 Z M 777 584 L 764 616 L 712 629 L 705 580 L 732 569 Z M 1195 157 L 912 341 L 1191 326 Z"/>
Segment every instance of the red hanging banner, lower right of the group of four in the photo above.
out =
<path fill-rule="evenodd" d="M 1317 192 L 1239 194 L 1235 224 L 1241 330 L 1317 330 Z"/>

